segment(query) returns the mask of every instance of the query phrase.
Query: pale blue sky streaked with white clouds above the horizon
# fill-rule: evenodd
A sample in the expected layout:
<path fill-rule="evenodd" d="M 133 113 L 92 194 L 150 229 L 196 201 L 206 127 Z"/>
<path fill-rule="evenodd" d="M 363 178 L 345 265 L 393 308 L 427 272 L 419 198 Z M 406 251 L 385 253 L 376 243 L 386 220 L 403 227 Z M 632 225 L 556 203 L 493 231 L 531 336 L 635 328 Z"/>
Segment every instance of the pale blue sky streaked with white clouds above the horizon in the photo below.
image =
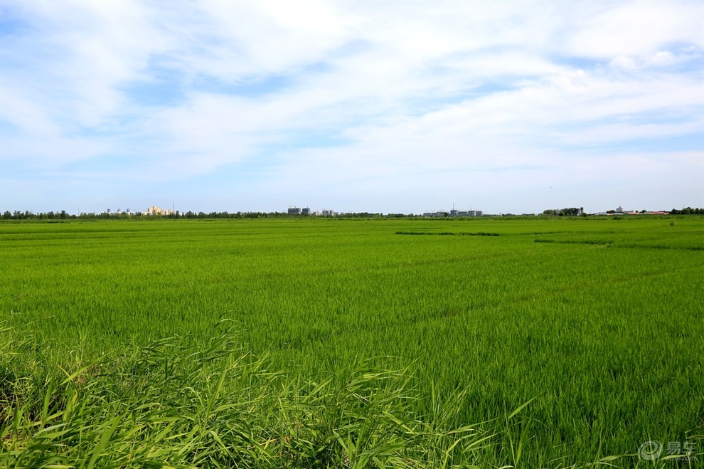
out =
<path fill-rule="evenodd" d="M 704 2 L 0 1 L 0 211 L 704 206 Z"/>

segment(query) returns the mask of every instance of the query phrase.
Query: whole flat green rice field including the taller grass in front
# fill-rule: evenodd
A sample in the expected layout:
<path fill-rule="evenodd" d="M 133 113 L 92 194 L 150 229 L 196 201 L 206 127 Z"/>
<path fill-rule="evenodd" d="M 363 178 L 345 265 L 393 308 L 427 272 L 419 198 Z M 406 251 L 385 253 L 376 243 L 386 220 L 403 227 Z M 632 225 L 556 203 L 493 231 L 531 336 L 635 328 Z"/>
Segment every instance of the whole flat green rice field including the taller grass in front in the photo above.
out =
<path fill-rule="evenodd" d="M 704 467 L 703 217 L 4 221 L 0 271 L 7 467 Z"/>

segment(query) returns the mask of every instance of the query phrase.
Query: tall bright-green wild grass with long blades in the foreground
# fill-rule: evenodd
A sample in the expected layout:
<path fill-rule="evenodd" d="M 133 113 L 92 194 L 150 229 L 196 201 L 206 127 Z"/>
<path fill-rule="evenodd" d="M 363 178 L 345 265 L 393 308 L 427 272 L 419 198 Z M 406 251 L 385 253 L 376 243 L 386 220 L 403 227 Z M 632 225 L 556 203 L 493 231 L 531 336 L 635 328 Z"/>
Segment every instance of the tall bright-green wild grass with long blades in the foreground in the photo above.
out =
<path fill-rule="evenodd" d="M 220 327 L 68 368 L 23 363 L 5 329 L 0 464 L 14 468 L 450 468 L 479 460 L 482 426 L 452 428 L 462 396 L 419 415 L 407 370 L 309 381 L 273 371 Z M 18 371 L 24 374 L 17 374 Z"/>

